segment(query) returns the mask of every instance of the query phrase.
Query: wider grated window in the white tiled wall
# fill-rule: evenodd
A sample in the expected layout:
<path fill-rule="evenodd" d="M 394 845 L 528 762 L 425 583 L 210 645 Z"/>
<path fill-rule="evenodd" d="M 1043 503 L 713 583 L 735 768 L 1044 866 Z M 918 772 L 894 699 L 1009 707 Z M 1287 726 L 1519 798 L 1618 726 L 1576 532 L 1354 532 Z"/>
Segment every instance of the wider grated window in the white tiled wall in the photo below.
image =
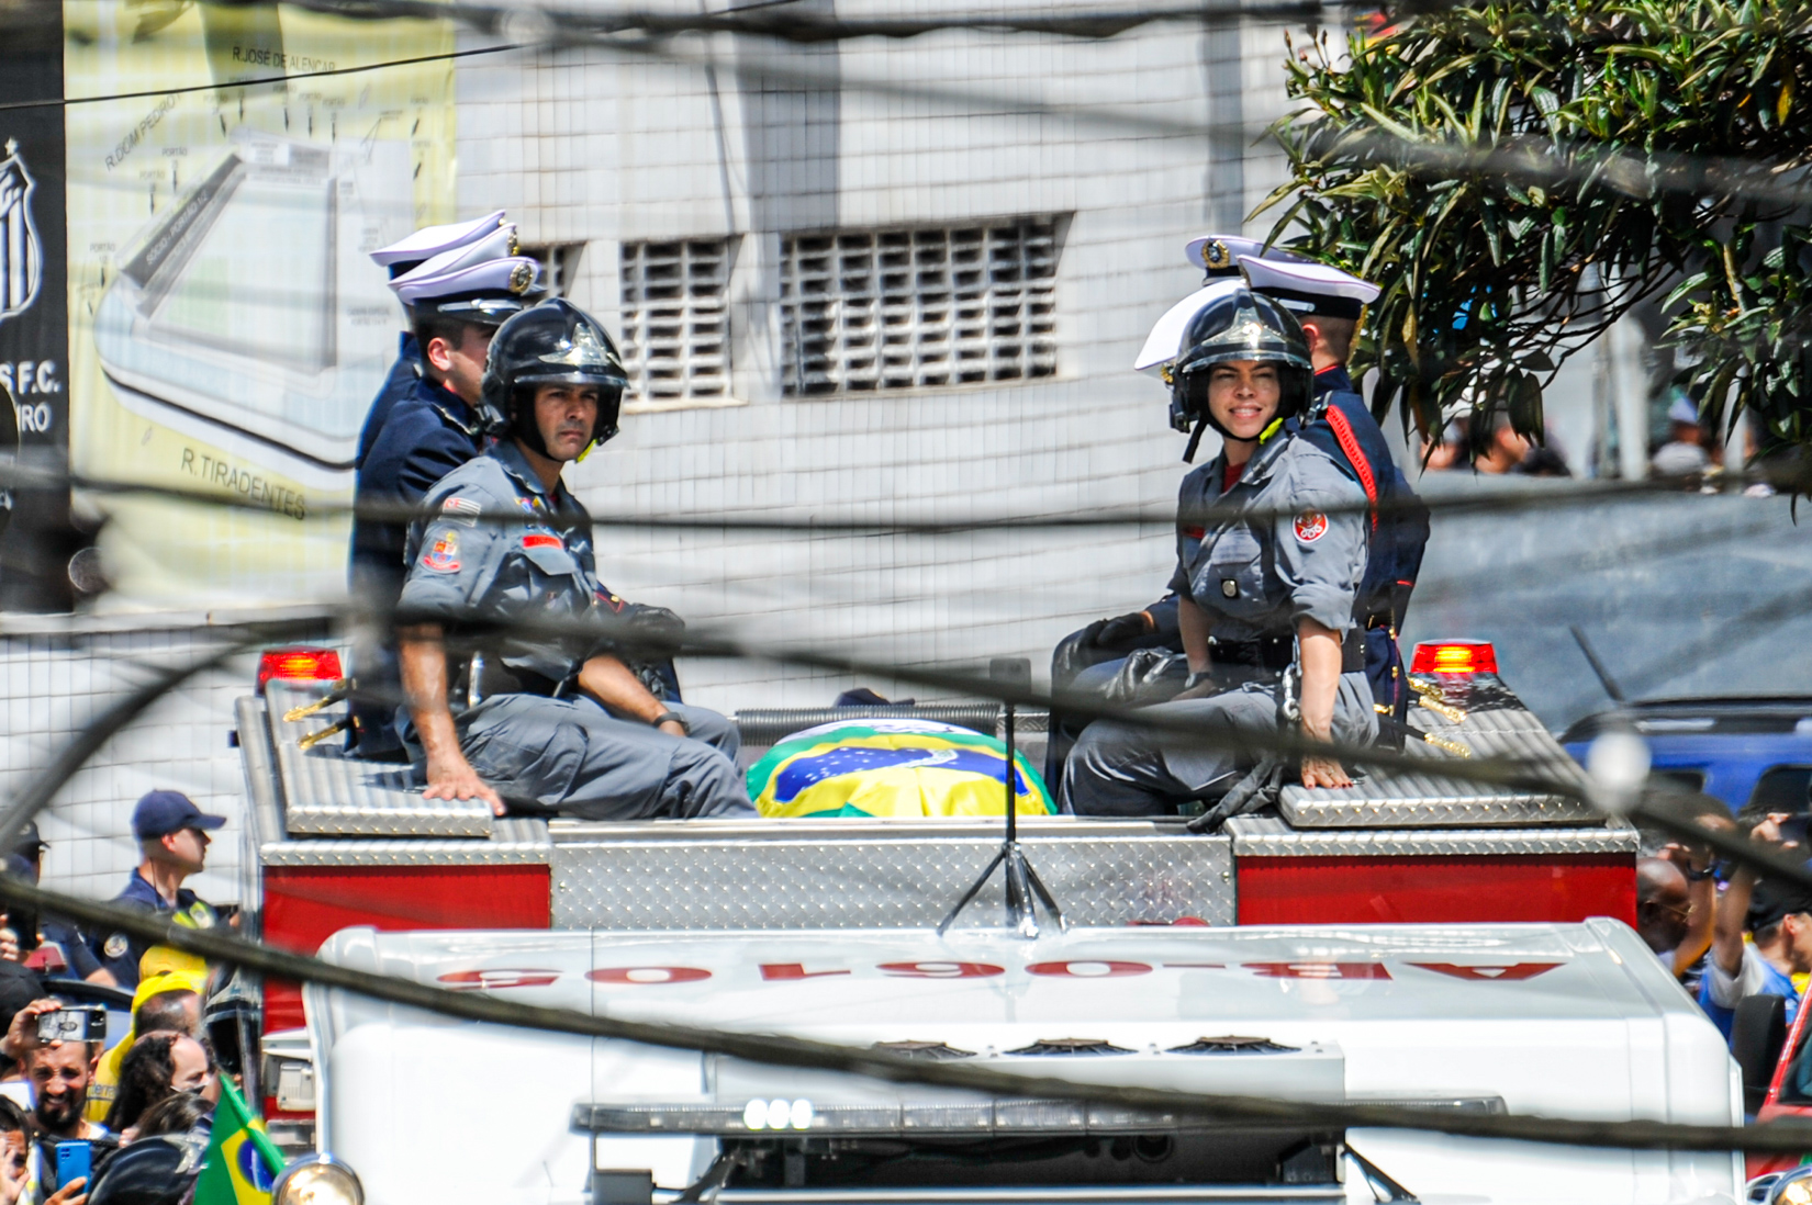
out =
<path fill-rule="evenodd" d="M 1058 219 L 781 239 L 783 391 L 1056 375 Z"/>

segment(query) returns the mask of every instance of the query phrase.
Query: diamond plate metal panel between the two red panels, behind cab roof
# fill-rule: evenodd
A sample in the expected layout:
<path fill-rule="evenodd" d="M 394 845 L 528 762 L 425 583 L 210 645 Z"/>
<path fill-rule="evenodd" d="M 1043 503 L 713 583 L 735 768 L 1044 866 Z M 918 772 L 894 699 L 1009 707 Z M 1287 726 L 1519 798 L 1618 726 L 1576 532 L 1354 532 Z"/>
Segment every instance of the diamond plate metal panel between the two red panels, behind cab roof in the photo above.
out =
<path fill-rule="evenodd" d="M 835 821 L 832 821 L 835 823 Z M 962 835 L 801 832 L 792 821 L 730 823 L 707 834 L 636 839 L 562 832 L 554 824 L 554 928 L 805 930 L 920 928 L 942 921 L 1000 846 L 995 824 Z M 776 828 L 781 826 L 781 828 Z M 591 826 L 616 828 L 616 826 Z M 1100 826 L 1091 826 L 1100 828 Z M 1111 828 L 1111 826 L 1109 826 Z M 1026 835 L 1026 855 L 1073 926 L 1200 917 L 1234 922 L 1230 843 L 1225 837 Z M 998 924 L 1000 875 L 971 902 L 959 928 Z"/>

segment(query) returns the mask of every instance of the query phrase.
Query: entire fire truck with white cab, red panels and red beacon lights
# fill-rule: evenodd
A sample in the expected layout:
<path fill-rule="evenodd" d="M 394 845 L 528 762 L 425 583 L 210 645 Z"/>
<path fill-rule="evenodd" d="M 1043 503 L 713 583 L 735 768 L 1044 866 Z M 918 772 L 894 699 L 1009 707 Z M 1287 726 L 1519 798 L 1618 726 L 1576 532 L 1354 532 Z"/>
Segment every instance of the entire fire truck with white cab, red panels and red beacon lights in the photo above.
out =
<path fill-rule="evenodd" d="M 259 676 L 261 690 L 237 709 L 250 803 L 243 901 L 261 935 L 279 946 L 313 951 L 333 939 L 335 957 L 375 959 L 386 971 L 442 984 L 839 1040 L 930 1042 L 926 1049 L 1036 1067 L 1046 1065 L 1044 1056 L 1024 1051 L 1046 1040 L 1060 1058 L 1098 1044 L 1098 1053 L 1113 1056 L 1075 1055 L 1082 1062 L 1065 1067 L 1087 1065 L 1125 1082 L 1256 1091 L 1259 1082 L 1243 1080 L 1243 1067 L 1265 1067 L 1254 1075 L 1281 1094 L 1453 1098 L 1466 1102 L 1455 1107 L 1571 1116 L 1740 1116 L 1740 1089 L 1730 1085 L 1716 1031 L 1665 973 L 1651 973 L 1658 968 L 1642 962 L 1640 940 L 1609 921 L 1578 928 L 1589 917 L 1633 922 L 1636 832 L 1564 795 L 1486 788 L 1441 774 L 1466 756 L 1515 756 L 1553 774 L 1578 774 L 1497 676 L 1489 645 L 1417 649 L 1410 725 L 1422 739 L 1410 739 L 1408 748 L 1426 754 L 1426 774 L 1373 774 L 1348 790 L 1285 788 L 1276 815 L 1234 819 L 1214 835 L 1187 832 L 1181 817 L 1022 817 L 1020 848 L 1069 922 L 1067 931 L 1047 926 L 1035 942 L 997 928 L 1004 908 L 998 879 L 948 937 L 933 931 L 1000 848 L 998 819 L 498 821 L 478 801 L 424 801 L 408 766 L 332 752 L 332 741 L 321 739 L 342 716 L 342 703 L 330 703 L 341 678 L 332 651 L 275 651 Z M 995 703 L 745 710 L 736 721 L 745 756 L 759 756 L 788 732 L 870 714 L 913 714 L 982 732 L 1002 723 Z M 1031 737 L 1026 752 L 1035 757 L 1040 728 L 1040 716 L 1018 716 L 1018 730 Z M 342 930 L 352 931 L 335 939 Z M 998 973 L 964 973 L 944 984 L 942 973 L 886 969 L 971 964 Z M 1535 964 L 1544 969 L 1524 973 Z M 1047 975 L 1035 966 L 1076 969 Z M 1142 969 L 1114 969 L 1132 966 Z M 1254 966 L 1312 969 L 1296 975 Z M 774 968 L 799 973 L 794 980 Z M 600 978 L 618 971 L 625 977 L 618 984 Z M 518 973 L 527 975 L 513 978 Z M 1093 978 L 1102 982 L 1087 982 Z M 1082 995 L 1065 997 L 1065 988 Z M 743 1134 L 705 1125 L 689 1138 L 622 1136 L 611 1129 L 629 1123 L 620 1107 L 699 1105 L 705 1091 L 719 1111 L 757 1096 L 826 1109 L 853 1107 L 866 1100 L 863 1091 L 873 1091 L 841 1082 L 819 1091 L 808 1080 L 788 1087 L 797 1076 L 725 1071 L 696 1055 L 486 1033 L 373 1013 L 350 1000 L 315 998 L 304 1013 L 294 984 L 265 984 L 261 998 L 261 1089 L 274 1133 L 295 1145 L 313 1138 L 323 1149 L 357 1151 L 366 1163 L 361 1171 L 373 1176 L 373 1200 L 386 1203 L 400 1200 L 404 1189 L 379 1167 L 397 1160 L 437 1185 L 435 1178 L 448 1176 L 446 1189 L 435 1192 L 455 1200 L 471 1189 L 469 1200 L 576 1201 L 574 1194 L 593 1192 L 594 1205 L 614 1205 L 612 1194 L 623 1191 L 640 1201 L 645 1192 L 636 1185 L 661 1194 L 683 1189 L 701 1174 L 707 1151 L 734 1145 Z M 1506 1000 L 1513 1004 L 1500 1007 Z M 355 1036 L 361 1033 L 366 1036 Z M 379 1049 L 359 1044 L 381 1033 L 395 1042 L 393 1055 L 370 1055 L 370 1062 L 352 1053 Z M 1229 1035 L 1263 1038 L 1261 1056 L 1218 1056 L 1214 1044 Z M 1198 1040 L 1207 1042 L 1200 1058 L 1178 1053 Z M 1584 1053 L 1600 1046 L 1614 1047 L 1614 1069 Z M 1653 1051 L 1638 1055 L 1638 1047 Z M 1674 1075 L 1687 1065 L 1694 1069 Z M 747 1100 L 728 1100 L 712 1087 L 719 1071 L 732 1096 L 748 1089 Z M 449 1076 L 487 1087 L 478 1096 L 453 1091 Z M 545 1078 L 545 1098 L 536 1094 L 531 1104 L 506 1089 L 515 1076 Z M 674 1096 L 681 1082 L 692 1085 L 690 1094 Z M 623 1091 L 612 1087 L 618 1084 Z M 558 1107 L 549 1104 L 554 1098 Z M 926 1098 L 882 1100 L 906 1116 Z M 317 1105 L 324 1116 L 315 1133 Z M 591 1113 L 574 1114 L 578 1105 Z M 395 1116 L 377 1125 L 373 1109 Z M 516 1109 L 533 1113 L 535 1120 L 524 1122 L 533 1136 L 511 1129 L 507 1114 Z M 444 1133 L 466 1133 L 460 1127 L 467 1123 L 477 1129 L 462 1145 L 417 1145 L 411 1134 L 428 1131 L 411 1131 L 415 1122 L 404 1114 L 433 1118 L 429 1129 L 448 1127 Z M 703 1125 L 696 1118 L 685 1123 Z M 661 1133 L 681 1133 L 674 1125 Z M 998 1118 L 989 1125 L 1002 1138 L 1027 1142 L 1024 1127 Z M 583 1138 L 605 1133 L 612 1136 L 596 1143 Z M 1073 1129 L 1053 1131 L 1062 1133 L 1076 1136 Z M 390 1136 L 388 1154 L 370 1145 L 377 1134 Z M 846 1138 L 882 1147 L 902 1142 L 892 1131 Z M 942 1156 L 902 1149 L 899 1160 L 915 1171 L 882 1176 L 850 1196 L 812 1187 L 828 1183 L 824 1169 L 812 1171 L 815 1160 L 828 1158 L 812 1145 L 814 1136 L 797 1151 L 750 1156 L 723 1191 L 777 1192 L 788 1201 L 882 1201 L 931 1189 L 937 1200 L 951 1200 L 951 1192 L 982 1200 L 977 1192 L 988 1187 L 993 1196 L 986 1200 L 1067 1200 L 1058 1185 L 1084 1191 L 1116 1183 L 1107 1196 L 1143 1200 L 1147 1189 L 1134 1185 L 1161 1183 L 1151 1192 L 1171 1200 L 1178 1183 L 1190 1181 L 1189 1200 L 1279 1200 L 1279 1192 L 1308 1192 L 1292 1187 L 1308 1180 L 1290 1176 L 1310 1165 L 1321 1192 L 1314 1200 L 1370 1183 L 1345 1176 L 1352 1160 L 1341 1154 L 1339 1134 L 1277 1138 L 1277 1162 L 1265 1167 L 1221 1165 L 1216 1160 L 1223 1154 L 1203 1151 L 1225 1151 L 1227 1143 L 1203 1147 L 1207 1140 L 1190 1134 L 1094 1133 L 1084 1122 L 1082 1138 L 1094 1145 L 1051 1154 L 1047 1163 L 1027 1156 L 1044 1171 L 1027 1172 L 1024 1183 L 913 1180 L 926 1160 L 939 1163 Z M 1265 1149 L 1265 1142 L 1252 1149 Z M 1165 1143 L 1171 1171 L 1140 1180 L 1145 1172 L 1136 1169 L 1152 1163 L 1140 1162 L 1138 1151 L 1151 1154 Z M 1082 1171 L 1096 1147 L 1109 1160 L 1098 1167 L 1120 1167 L 1114 1174 L 1122 1180 Z M 1553 1194 L 1542 1189 L 1544 1200 L 1566 1200 L 1587 1185 L 1582 1192 L 1598 1201 L 1687 1201 L 1716 1200 L 1738 1183 L 1736 1165 L 1723 1156 L 1526 1151 L 1538 1171 L 1517 1178 L 1515 1192 L 1502 1189 L 1511 1192 L 1504 1196 L 1464 1172 L 1504 1167 L 1509 1156 L 1502 1149 L 1401 1134 L 1366 1136 L 1354 1149 L 1375 1156 L 1379 1167 L 1395 1160 L 1386 1181 L 1421 1178 L 1410 1187 L 1435 1198 L 1459 1194 L 1448 1200 L 1524 1200 L 1517 1192 L 1537 1185 L 1557 1185 Z M 529 1151 L 540 1152 L 535 1160 L 545 1163 L 545 1174 L 524 1171 L 518 1154 L 527 1158 Z M 873 1149 L 863 1151 L 850 1160 L 873 1158 Z M 1114 1154 L 1125 1151 L 1134 1152 L 1131 1162 Z M 627 1180 L 605 1176 L 594 1185 L 569 1174 L 574 1160 L 593 1158 L 587 1152 L 603 1160 L 594 1162 L 600 1174 L 627 1169 Z M 805 1181 L 795 1174 L 799 1160 Z M 962 1163 L 964 1156 L 951 1160 Z M 507 1187 L 455 1171 L 493 1162 L 513 1169 Z M 982 1162 L 1018 1165 L 1004 1154 Z M 1489 1178 L 1500 1178 L 1499 1171 Z M 1457 1187 L 1462 1183 L 1470 1187 Z M 1102 1196 L 1100 1189 L 1085 1191 Z"/>

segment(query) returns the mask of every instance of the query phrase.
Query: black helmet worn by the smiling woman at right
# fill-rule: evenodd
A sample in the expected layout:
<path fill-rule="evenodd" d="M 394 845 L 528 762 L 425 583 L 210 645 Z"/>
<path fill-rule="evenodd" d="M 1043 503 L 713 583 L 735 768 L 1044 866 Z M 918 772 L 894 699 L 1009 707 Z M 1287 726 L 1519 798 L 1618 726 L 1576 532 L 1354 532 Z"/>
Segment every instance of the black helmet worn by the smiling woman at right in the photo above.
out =
<path fill-rule="evenodd" d="M 1209 411 L 1209 370 L 1227 361 L 1277 364 L 1283 391 L 1277 400 L 1279 419 L 1294 419 L 1308 408 L 1314 366 L 1308 359 L 1308 335 L 1296 315 L 1250 288 L 1229 290 L 1189 319 L 1183 348 L 1171 364 L 1171 426 L 1189 431 L 1183 460 L 1194 460 L 1203 426 L 1227 435 Z"/>

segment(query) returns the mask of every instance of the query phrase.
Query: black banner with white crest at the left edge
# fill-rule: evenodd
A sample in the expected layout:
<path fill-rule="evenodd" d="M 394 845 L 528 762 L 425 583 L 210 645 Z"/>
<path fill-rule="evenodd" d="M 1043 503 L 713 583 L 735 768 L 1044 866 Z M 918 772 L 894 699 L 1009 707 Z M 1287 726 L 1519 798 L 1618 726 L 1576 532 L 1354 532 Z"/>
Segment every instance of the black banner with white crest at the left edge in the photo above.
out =
<path fill-rule="evenodd" d="M 63 22 L 22 5 L 0 38 L 0 460 L 60 469 L 69 449 L 63 286 Z M 67 611 L 69 498 L 0 482 L 0 611 Z"/>

